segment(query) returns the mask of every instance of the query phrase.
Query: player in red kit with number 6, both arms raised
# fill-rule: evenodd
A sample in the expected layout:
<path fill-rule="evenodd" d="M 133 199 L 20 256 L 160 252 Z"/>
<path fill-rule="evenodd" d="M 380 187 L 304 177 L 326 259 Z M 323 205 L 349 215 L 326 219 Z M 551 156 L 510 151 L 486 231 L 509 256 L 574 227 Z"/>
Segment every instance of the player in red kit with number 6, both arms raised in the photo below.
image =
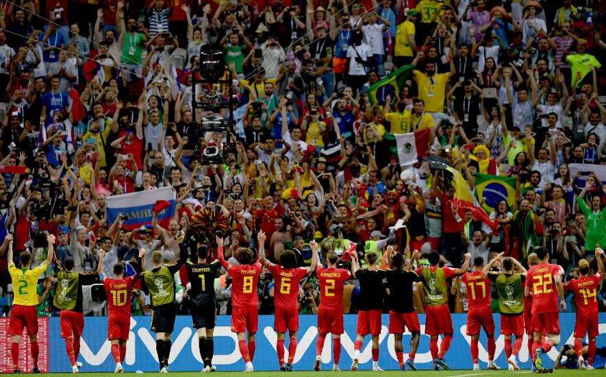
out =
<path fill-rule="evenodd" d="M 274 302 L 276 307 L 274 330 L 278 334 L 276 352 L 278 354 L 278 363 L 282 372 L 292 372 L 292 361 L 296 353 L 296 335 L 299 331 L 299 282 L 302 278 L 312 271 L 316 270 L 316 261 L 318 256 L 318 243 L 312 241 L 312 263 L 310 267 L 296 267 L 296 256 L 292 250 L 284 250 L 280 254 L 280 264 L 275 265 L 265 258 L 265 233 L 259 232 L 259 255 L 261 263 L 267 266 L 270 271 L 274 284 Z M 288 363 L 284 364 L 284 339 L 286 339 L 286 330 L 290 335 L 288 344 Z"/>

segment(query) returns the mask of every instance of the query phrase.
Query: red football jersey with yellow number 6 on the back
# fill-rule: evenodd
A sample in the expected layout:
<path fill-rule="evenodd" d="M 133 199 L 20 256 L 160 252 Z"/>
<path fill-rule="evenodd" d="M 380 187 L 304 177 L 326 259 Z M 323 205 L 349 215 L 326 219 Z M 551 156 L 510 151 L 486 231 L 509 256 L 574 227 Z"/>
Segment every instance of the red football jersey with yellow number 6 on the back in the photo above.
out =
<path fill-rule="evenodd" d="M 275 306 L 283 308 L 299 308 L 299 282 L 307 275 L 305 267 L 285 269 L 280 265 L 270 263 L 267 269 L 274 280 L 273 298 Z"/>

